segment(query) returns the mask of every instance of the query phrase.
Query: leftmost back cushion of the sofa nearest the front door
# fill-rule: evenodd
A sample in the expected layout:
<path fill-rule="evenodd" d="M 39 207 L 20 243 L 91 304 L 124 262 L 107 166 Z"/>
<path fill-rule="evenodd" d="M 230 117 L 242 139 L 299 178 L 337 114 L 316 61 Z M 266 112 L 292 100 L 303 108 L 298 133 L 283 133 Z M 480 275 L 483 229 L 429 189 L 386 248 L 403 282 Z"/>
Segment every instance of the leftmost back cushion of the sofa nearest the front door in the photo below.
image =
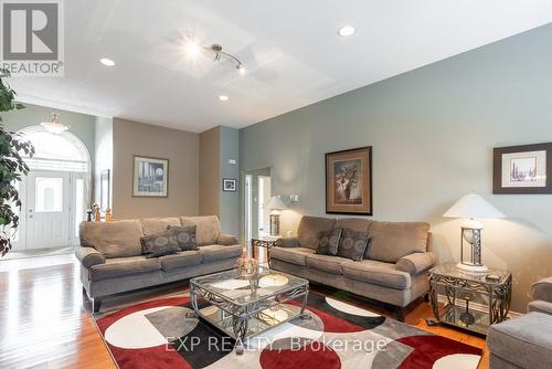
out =
<path fill-rule="evenodd" d="M 139 220 L 116 222 L 82 222 L 79 226 L 81 245 L 94 247 L 106 259 L 138 256 L 142 254 Z"/>

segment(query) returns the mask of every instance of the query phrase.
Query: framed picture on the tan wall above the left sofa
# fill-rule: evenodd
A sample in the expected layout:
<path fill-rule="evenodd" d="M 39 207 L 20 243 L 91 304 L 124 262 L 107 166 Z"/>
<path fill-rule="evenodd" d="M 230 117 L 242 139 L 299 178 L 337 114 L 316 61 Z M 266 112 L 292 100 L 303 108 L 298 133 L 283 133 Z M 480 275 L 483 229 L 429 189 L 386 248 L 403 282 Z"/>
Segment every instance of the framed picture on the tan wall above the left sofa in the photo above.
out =
<path fill-rule="evenodd" d="M 169 159 L 134 157 L 132 196 L 167 198 L 169 196 Z"/>

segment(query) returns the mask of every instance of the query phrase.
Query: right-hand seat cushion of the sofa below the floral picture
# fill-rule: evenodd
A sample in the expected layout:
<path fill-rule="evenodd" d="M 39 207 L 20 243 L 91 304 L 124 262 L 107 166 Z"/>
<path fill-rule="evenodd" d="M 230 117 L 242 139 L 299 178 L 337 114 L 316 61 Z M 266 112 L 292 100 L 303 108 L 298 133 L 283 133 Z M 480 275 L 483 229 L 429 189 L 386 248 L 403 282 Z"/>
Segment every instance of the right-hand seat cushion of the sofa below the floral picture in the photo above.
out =
<path fill-rule="evenodd" d="M 408 289 L 411 287 L 411 275 L 406 272 L 395 270 L 394 264 L 362 260 L 360 262 L 348 262 L 342 265 L 343 275 L 354 281 L 376 284 L 379 286 L 394 289 Z"/>

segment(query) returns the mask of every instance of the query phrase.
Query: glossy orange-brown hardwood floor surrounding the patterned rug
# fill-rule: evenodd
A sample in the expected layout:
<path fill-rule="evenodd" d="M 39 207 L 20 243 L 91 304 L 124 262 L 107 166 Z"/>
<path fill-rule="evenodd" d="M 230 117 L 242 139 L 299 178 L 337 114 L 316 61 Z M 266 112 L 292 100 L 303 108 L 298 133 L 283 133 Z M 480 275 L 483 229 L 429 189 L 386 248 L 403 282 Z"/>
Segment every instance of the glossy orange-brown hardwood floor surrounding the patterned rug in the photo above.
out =
<path fill-rule="evenodd" d="M 182 283 L 106 301 L 106 308 L 182 291 Z M 116 368 L 89 316 L 73 255 L 0 261 L 0 368 Z M 355 305 L 374 309 L 362 301 Z M 385 312 L 380 312 L 389 315 Z M 427 327 L 427 303 L 406 315 L 406 323 L 468 345 L 485 339 L 446 327 Z M 488 368 L 487 355 L 480 369 Z"/>

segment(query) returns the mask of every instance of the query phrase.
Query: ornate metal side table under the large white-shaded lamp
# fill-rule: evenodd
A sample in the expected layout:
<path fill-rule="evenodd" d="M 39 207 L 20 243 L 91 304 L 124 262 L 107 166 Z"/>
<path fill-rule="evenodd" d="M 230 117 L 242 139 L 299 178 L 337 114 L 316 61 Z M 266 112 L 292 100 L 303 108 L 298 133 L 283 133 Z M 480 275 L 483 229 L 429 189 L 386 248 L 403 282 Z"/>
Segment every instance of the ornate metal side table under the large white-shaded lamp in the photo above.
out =
<path fill-rule="evenodd" d="M 438 323 L 487 335 L 491 324 L 507 318 L 511 296 L 512 275 L 508 271 L 471 274 L 455 263 L 429 271 L 429 299 Z"/>

